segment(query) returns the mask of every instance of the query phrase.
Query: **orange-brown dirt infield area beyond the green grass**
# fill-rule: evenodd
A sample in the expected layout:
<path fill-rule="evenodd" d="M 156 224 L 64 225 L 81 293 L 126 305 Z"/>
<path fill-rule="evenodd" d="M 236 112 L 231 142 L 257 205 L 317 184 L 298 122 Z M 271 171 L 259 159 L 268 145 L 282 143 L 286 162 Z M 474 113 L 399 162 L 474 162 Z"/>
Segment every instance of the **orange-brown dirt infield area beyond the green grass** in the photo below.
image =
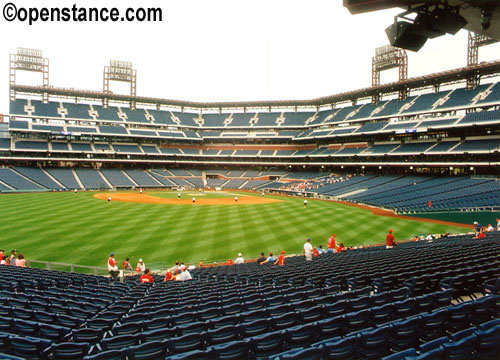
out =
<path fill-rule="evenodd" d="M 168 204 L 168 205 L 192 205 L 193 201 L 189 199 L 165 199 L 160 197 L 151 196 L 149 194 L 136 194 L 136 193 L 98 193 L 94 197 L 100 200 L 107 200 L 111 198 L 112 201 L 125 201 L 137 202 L 145 204 Z M 195 196 L 196 197 L 196 196 Z M 255 205 L 255 204 L 270 204 L 281 202 L 282 200 L 261 198 L 257 196 L 238 195 L 238 201 L 234 198 L 220 198 L 220 199 L 199 199 L 196 198 L 195 205 Z"/>

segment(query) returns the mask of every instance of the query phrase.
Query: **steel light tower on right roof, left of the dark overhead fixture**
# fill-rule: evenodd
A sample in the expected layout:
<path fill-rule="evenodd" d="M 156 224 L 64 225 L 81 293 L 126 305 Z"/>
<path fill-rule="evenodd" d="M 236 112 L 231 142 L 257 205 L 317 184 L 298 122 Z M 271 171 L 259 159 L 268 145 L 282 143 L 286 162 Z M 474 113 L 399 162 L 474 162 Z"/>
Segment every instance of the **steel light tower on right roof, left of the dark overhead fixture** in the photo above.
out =
<path fill-rule="evenodd" d="M 408 55 L 406 51 L 391 45 L 381 46 L 375 49 L 375 56 L 372 58 L 372 87 L 380 85 L 380 73 L 384 70 L 399 69 L 399 81 L 408 79 Z M 399 99 L 406 99 L 408 91 L 403 88 L 399 91 Z M 377 102 L 380 93 L 372 96 L 372 101 Z"/>

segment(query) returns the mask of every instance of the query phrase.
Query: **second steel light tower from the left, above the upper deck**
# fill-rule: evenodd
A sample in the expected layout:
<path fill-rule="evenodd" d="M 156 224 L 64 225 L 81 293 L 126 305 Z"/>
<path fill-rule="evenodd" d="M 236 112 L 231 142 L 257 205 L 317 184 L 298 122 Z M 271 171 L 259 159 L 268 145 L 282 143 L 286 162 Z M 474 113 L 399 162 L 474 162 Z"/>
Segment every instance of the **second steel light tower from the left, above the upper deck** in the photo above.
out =
<path fill-rule="evenodd" d="M 103 106 L 108 107 L 109 97 L 112 93 L 109 91 L 111 81 L 120 81 L 130 83 L 130 108 L 136 108 L 135 98 L 137 96 L 137 70 L 132 68 L 132 63 L 128 61 L 111 60 L 109 66 L 104 67 L 103 74 Z"/>

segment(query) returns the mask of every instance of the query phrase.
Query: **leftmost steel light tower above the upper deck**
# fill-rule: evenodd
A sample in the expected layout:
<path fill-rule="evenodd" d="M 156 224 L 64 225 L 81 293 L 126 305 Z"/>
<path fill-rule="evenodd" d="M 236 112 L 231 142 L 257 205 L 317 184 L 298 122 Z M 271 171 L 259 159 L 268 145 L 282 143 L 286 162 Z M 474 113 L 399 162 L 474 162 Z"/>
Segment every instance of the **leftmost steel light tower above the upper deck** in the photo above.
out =
<path fill-rule="evenodd" d="M 9 90 L 10 100 L 16 100 L 16 74 L 18 71 L 37 72 L 42 74 L 42 99 L 49 101 L 49 59 L 43 57 L 42 50 L 17 48 L 16 54 L 10 54 Z"/>

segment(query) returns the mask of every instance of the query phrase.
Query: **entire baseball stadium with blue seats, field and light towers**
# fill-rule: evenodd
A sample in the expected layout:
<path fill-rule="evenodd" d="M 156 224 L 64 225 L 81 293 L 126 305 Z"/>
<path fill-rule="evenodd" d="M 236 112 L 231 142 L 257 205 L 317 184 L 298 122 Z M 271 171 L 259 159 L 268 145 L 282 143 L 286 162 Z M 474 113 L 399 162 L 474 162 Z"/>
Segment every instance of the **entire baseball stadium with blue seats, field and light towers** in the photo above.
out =
<path fill-rule="evenodd" d="M 383 3 L 344 1 L 408 6 L 371 84 L 305 100 L 142 96 L 119 60 L 58 87 L 14 51 L 0 359 L 498 359 L 498 4 Z M 408 76 L 464 26 L 466 66 Z"/>

